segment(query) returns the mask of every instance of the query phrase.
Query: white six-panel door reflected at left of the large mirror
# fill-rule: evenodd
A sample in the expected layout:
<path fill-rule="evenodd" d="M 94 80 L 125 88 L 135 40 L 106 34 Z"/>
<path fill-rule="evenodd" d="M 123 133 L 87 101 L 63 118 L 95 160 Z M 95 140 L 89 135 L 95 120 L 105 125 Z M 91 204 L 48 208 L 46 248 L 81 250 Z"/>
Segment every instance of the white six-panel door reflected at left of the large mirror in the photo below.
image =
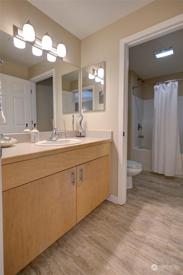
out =
<path fill-rule="evenodd" d="M 31 82 L 7 74 L 0 74 L 2 108 L 6 123 L 1 133 L 22 133 L 25 124 L 32 127 Z"/>

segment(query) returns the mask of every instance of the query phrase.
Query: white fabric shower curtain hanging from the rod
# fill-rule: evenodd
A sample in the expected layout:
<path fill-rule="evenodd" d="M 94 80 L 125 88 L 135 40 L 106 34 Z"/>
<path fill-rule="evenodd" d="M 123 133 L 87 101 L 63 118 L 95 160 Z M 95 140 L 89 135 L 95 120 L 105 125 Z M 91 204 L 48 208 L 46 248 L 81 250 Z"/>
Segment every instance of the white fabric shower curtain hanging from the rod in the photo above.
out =
<path fill-rule="evenodd" d="M 182 174 L 177 96 L 178 82 L 154 86 L 152 170 L 166 176 Z"/>

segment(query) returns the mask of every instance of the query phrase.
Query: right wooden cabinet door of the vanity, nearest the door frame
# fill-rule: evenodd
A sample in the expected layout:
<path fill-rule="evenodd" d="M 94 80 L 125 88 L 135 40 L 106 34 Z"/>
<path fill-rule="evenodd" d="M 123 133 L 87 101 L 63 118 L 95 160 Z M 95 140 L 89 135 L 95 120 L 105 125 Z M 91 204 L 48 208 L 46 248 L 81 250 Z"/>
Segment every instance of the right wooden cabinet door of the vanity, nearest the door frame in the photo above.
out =
<path fill-rule="evenodd" d="M 109 196 L 109 169 L 109 155 L 77 166 L 77 222 Z"/>

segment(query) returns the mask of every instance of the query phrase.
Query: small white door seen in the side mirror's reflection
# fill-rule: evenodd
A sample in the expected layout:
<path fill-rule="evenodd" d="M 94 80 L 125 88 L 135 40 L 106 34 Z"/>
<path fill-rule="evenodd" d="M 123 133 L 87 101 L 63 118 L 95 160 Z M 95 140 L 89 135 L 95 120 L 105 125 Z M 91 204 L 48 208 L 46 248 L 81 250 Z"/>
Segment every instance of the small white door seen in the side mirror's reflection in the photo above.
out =
<path fill-rule="evenodd" d="M 75 112 L 74 93 L 62 90 L 62 113 Z"/>

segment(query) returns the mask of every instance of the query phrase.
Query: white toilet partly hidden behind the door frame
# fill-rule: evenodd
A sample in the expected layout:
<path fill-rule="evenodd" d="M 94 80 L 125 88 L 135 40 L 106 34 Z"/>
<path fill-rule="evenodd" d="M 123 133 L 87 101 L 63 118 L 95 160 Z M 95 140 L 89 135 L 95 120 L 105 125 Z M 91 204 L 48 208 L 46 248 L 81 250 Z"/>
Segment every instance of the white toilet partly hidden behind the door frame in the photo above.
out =
<path fill-rule="evenodd" d="M 138 175 L 140 172 L 142 172 L 141 163 L 132 160 L 127 160 L 127 189 L 133 187 L 132 177 Z"/>

